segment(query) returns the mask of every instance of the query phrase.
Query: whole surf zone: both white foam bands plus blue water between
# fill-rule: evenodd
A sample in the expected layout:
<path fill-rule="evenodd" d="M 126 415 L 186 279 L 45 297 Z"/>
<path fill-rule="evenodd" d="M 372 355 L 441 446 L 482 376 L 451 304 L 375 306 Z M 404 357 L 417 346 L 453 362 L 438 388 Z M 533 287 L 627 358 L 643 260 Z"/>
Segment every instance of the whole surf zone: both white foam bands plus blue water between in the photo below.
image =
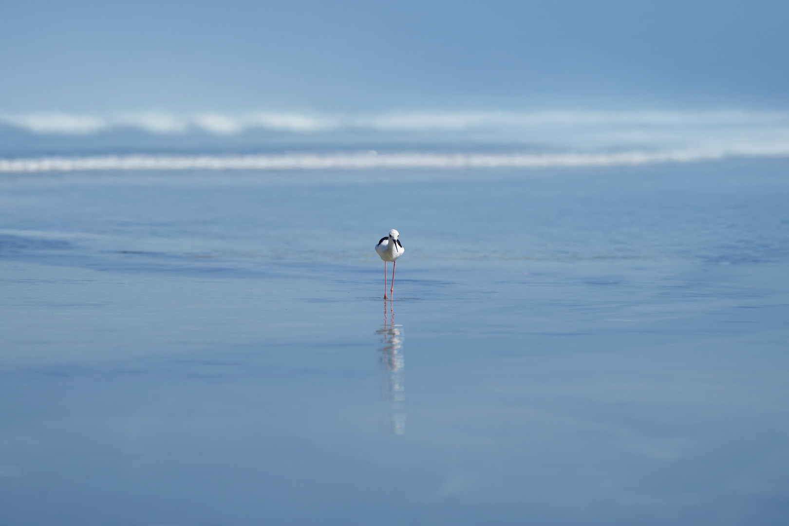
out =
<path fill-rule="evenodd" d="M 466 111 L 377 115 L 148 112 L 109 116 L 38 113 L 0 114 L 0 125 L 33 134 L 14 139 L 16 153 L 6 148 L 6 159 L 0 159 L 0 173 L 550 168 L 789 155 L 789 113 L 786 112 Z M 142 130 L 151 134 L 152 139 L 148 143 L 133 143 L 123 134 L 102 136 L 117 129 Z M 245 135 L 255 130 L 264 130 L 269 135 Z M 193 142 L 191 136 L 184 135 L 195 131 L 217 138 Z M 39 141 L 39 136 L 44 135 L 48 136 L 47 140 Z M 57 136 L 82 139 L 66 140 Z M 287 151 L 289 144 L 299 144 L 297 149 L 301 153 L 271 153 L 271 147 L 279 147 L 282 152 Z M 257 154 L 252 149 L 252 155 L 231 155 L 239 149 L 250 151 L 250 147 L 258 146 L 265 147 L 264 151 L 269 153 Z M 386 152 L 377 154 L 369 151 L 371 147 Z M 117 155 L 118 151 L 130 150 L 138 155 Z M 62 154 L 53 153 L 58 151 Z M 228 155 L 220 155 L 222 151 Z M 173 152 L 179 155 L 169 155 Z"/>

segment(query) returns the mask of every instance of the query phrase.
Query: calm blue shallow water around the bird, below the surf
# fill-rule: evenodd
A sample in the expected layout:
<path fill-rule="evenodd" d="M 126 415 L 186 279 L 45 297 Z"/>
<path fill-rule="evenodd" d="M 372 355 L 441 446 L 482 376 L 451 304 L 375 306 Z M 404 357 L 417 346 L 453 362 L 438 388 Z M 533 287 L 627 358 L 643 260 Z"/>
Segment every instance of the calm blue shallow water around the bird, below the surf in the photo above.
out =
<path fill-rule="evenodd" d="M 0 524 L 786 524 L 787 167 L 6 175 Z"/>

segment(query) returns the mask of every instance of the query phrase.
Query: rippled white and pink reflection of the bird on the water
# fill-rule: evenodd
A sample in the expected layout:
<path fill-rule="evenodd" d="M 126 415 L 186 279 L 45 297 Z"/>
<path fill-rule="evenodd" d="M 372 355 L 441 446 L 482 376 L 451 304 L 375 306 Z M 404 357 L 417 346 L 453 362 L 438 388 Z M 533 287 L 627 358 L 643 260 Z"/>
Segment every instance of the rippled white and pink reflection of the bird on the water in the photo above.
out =
<path fill-rule="evenodd" d="M 405 361 L 402 356 L 402 325 L 394 324 L 394 308 L 391 300 L 383 300 L 383 326 L 376 330 L 380 334 L 381 382 L 383 398 L 391 402 L 390 426 L 394 435 L 406 433 L 406 413 L 403 402 L 406 400 L 406 384 L 403 376 Z"/>

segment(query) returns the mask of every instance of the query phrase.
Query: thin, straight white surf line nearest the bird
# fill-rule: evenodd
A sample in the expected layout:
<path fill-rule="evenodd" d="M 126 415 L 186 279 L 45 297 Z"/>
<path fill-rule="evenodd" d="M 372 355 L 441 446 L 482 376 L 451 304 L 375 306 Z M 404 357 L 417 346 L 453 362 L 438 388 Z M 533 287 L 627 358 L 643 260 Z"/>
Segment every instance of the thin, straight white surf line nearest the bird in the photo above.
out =
<path fill-rule="evenodd" d="M 282 155 L 95 155 L 0 159 L 0 173 L 125 170 L 376 170 L 463 168 L 563 168 L 701 162 L 730 157 L 789 156 L 789 143 L 720 148 L 610 153 L 445 154 L 383 153 Z"/>

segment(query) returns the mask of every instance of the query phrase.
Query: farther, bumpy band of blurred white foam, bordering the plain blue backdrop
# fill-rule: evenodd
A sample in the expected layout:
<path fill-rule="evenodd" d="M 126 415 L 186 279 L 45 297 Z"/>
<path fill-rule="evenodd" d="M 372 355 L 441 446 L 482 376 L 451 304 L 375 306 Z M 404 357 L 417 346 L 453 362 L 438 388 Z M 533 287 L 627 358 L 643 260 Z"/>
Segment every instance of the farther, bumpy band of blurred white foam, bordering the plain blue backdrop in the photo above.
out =
<path fill-rule="evenodd" d="M 36 133 L 85 134 L 131 127 L 148 132 L 174 133 L 188 129 L 228 134 L 250 129 L 289 132 L 324 132 L 338 129 L 386 131 L 467 131 L 495 129 L 543 130 L 552 128 L 660 128 L 753 129 L 789 128 L 789 113 L 768 111 L 456 111 L 394 112 L 388 114 L 331 115 L 293 113 L 200 113 L 177 115 L 157 112 L 86 115 L 65 113 L 0 114 L 0 123 Z"/>

